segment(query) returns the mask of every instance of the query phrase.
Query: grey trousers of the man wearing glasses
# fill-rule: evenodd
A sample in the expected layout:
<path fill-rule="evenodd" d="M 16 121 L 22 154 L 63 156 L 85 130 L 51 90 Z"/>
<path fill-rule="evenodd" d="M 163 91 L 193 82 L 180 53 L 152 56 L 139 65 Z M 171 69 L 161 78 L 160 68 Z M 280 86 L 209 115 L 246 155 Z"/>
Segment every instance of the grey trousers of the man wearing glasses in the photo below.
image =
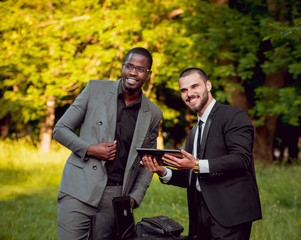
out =
<path fill-rule="evenodd" d="M 116 223 L 112 198 L 121 196 L 121 192 L 122 186 L 107 186 L 97 207 L 60 192 L 57 215 L 59 239 L 114 239 Z"/>

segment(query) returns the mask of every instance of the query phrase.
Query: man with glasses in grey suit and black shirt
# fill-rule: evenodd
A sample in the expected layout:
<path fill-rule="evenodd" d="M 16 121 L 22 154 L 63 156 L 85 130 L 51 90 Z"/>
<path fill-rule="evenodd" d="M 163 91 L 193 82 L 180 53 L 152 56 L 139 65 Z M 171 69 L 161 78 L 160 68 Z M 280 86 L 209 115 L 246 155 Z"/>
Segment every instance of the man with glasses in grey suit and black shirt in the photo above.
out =
<path fill-rule="evenodd" d="M 141 90 L 151 66 L 151 54 L 133 48 L 122 79 L 89 81 L 54 127 L 54 139 L 72 151 L 59 187 L 59 239 L 114 239 L 112 198 L 129 195 L 133 208 L 142 202 L 152 173 L 136 148 L 156 148 L 162 118 Z"/>

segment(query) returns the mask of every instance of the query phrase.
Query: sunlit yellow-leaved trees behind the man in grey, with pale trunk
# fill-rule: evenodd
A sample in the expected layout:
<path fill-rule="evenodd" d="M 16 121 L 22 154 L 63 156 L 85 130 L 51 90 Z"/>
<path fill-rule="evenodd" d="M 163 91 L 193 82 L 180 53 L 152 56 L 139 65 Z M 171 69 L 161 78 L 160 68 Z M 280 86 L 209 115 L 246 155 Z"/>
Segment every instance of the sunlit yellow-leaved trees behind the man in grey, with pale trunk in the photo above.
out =
<path fill-rule="evenodd" d="M 177 16 L 179 2 L 1 1 L 6 21 L 0 25 L 0 119 L 12 115 L 7 119 L 21 135 L 27 133 L 23 126 L 34 127 L 31 132 L 40 136 L 42 149 L 47 150 L 54 110 L 59 117 L 59 109 L 66 109 L 89 79 L 120 77 L 130 48 L 144 46 L 155 52 L 157 73 L 157 62 L 163 60 L 156 52 L 167 31 L 172 32 L 167 22 Z M 152 42 L 161 31 L 162 39 Z M 157 101 L 157 85 L 152 78 L 145 91 L 164 109 L 163 100 Z M 169 115 L 174 114 L 171 109 Z"/>

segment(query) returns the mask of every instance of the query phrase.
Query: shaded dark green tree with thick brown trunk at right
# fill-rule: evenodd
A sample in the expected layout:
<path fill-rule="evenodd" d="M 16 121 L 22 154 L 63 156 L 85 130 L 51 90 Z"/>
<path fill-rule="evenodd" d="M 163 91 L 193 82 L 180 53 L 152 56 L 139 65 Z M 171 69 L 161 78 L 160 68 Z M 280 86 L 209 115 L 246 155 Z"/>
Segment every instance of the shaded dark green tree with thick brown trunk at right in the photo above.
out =
<path fill-rule="evenodd" d="M 194 41 L 188 51 L 198 52 L 197 58 L 213 81 L 216 98 L 242 107 L 252 117 L 256 127 L 254 156 L 266 164 L 273 161 L 277 118 L 282 114 L 289 118 L 287 110 L 279 107 L 290 99 L 283 93 L 300 85 L 300 81 L 287 81 L 300 78 L 296 69 L 300 63 L 300 44 L 287 37 L 274 41 L 266 37 L 292 25 L 294 17 L 300 18 L 300 5 L 294 1 L 273 4 L 233 0 L 192 2 L 185 16 L 187 34 Z M 278 19 L 271 12 L 275 4 L 282 11 L 277 12 Z M 285 11 L 290 15 L 285 15 Z M 300 93 L 300 86 L 295 93 Z M 300 111 L 295 93 L 294 105 Z M 297 115 L 290 114 L 289 118 L 295 124 Z"/>

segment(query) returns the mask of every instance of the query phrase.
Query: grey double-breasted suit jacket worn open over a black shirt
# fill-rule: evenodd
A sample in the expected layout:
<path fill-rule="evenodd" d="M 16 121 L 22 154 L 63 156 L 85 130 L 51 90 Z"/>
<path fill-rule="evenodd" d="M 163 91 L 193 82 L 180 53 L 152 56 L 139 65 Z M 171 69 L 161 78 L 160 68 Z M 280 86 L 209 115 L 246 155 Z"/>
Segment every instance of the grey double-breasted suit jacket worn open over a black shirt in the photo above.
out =
<path fill-rule="evenodd" d="M 59 190 L 97 206 L 107 183 L 105 161 L 87 157 L 89 145 L 113 142 L 117 117 L 118 81 L 91 80 L 54 127 L 56 141 L 72 151 L 65 164 Z M 156 148 L 161 110 L 142 94 L 123 180 L 123 195 L 138 205 L 152 174 L 140 166 L 137 147 Z M 79 136 L 75 130 L 80 128 Z"/>

